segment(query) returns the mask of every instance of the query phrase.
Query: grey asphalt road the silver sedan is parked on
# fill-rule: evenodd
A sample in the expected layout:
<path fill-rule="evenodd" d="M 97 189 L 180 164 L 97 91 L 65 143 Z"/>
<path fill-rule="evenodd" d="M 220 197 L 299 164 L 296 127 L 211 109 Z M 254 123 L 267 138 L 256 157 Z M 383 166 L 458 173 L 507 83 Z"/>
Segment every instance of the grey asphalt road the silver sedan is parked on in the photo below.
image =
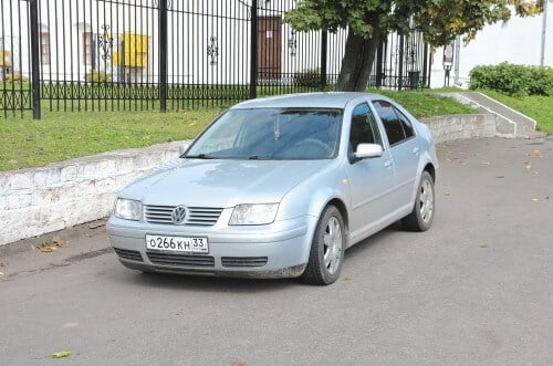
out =
<path fill-rule="evenodd" d="M 0 365 L 552 365 L 553 137 L 439 157 L 431 230 L 357 244 L 331 286 L 142 274 L 103 227 L 0 252 Z"/>

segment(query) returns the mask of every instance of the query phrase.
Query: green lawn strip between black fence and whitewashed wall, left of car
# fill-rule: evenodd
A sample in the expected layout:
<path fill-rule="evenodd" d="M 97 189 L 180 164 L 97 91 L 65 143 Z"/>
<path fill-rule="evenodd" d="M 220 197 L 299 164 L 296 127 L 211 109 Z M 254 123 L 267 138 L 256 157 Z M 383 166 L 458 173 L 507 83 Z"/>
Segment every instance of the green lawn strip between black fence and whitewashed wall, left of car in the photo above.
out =
<path fill-rule="evenodd" d="M 44 112 L 0 117 L 0 171 L 194 138 L 220 108 L 184 112 Z"/>

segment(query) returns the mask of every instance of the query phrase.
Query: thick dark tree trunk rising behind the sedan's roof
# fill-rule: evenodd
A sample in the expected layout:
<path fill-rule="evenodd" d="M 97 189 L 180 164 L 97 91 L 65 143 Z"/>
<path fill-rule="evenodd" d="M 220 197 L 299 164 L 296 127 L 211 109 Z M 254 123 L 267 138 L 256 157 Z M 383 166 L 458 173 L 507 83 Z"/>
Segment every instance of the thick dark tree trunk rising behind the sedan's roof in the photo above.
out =
<path fill-rule="evenodd" d="M 336 83 L 337 91 L 363 92 L 367 88 L 379 42 L 380 32 L 376 28 L 371 39 L 364 39 L 349 31 Z"/>

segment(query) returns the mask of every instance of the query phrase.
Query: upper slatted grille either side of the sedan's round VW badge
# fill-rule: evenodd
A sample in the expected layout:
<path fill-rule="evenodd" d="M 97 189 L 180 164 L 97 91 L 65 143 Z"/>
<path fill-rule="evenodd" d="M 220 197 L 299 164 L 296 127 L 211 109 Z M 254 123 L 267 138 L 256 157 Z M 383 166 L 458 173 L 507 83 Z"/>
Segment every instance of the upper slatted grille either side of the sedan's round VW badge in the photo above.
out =
<path fill-rule="evenodd" d="M 175 206 L 146 206 L 144 218 L 149 223 L 175 224 L 171 219 Z M 217 223 L 222 208 L 188 207 L 184 224 L 211 227 Z"/>

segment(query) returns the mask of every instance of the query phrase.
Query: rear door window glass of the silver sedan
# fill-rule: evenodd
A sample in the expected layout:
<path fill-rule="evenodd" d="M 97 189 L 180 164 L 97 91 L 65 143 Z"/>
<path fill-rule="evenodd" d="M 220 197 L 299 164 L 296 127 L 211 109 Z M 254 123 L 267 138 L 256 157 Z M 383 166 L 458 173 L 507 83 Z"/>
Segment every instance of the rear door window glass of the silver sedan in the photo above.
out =
<path fill-rule="evenodd" d="M 380 117 L 389 145 L 396 145 L 415 135 L 413 124 L 399 109 L 386 101 L 374 102 Z"/>

